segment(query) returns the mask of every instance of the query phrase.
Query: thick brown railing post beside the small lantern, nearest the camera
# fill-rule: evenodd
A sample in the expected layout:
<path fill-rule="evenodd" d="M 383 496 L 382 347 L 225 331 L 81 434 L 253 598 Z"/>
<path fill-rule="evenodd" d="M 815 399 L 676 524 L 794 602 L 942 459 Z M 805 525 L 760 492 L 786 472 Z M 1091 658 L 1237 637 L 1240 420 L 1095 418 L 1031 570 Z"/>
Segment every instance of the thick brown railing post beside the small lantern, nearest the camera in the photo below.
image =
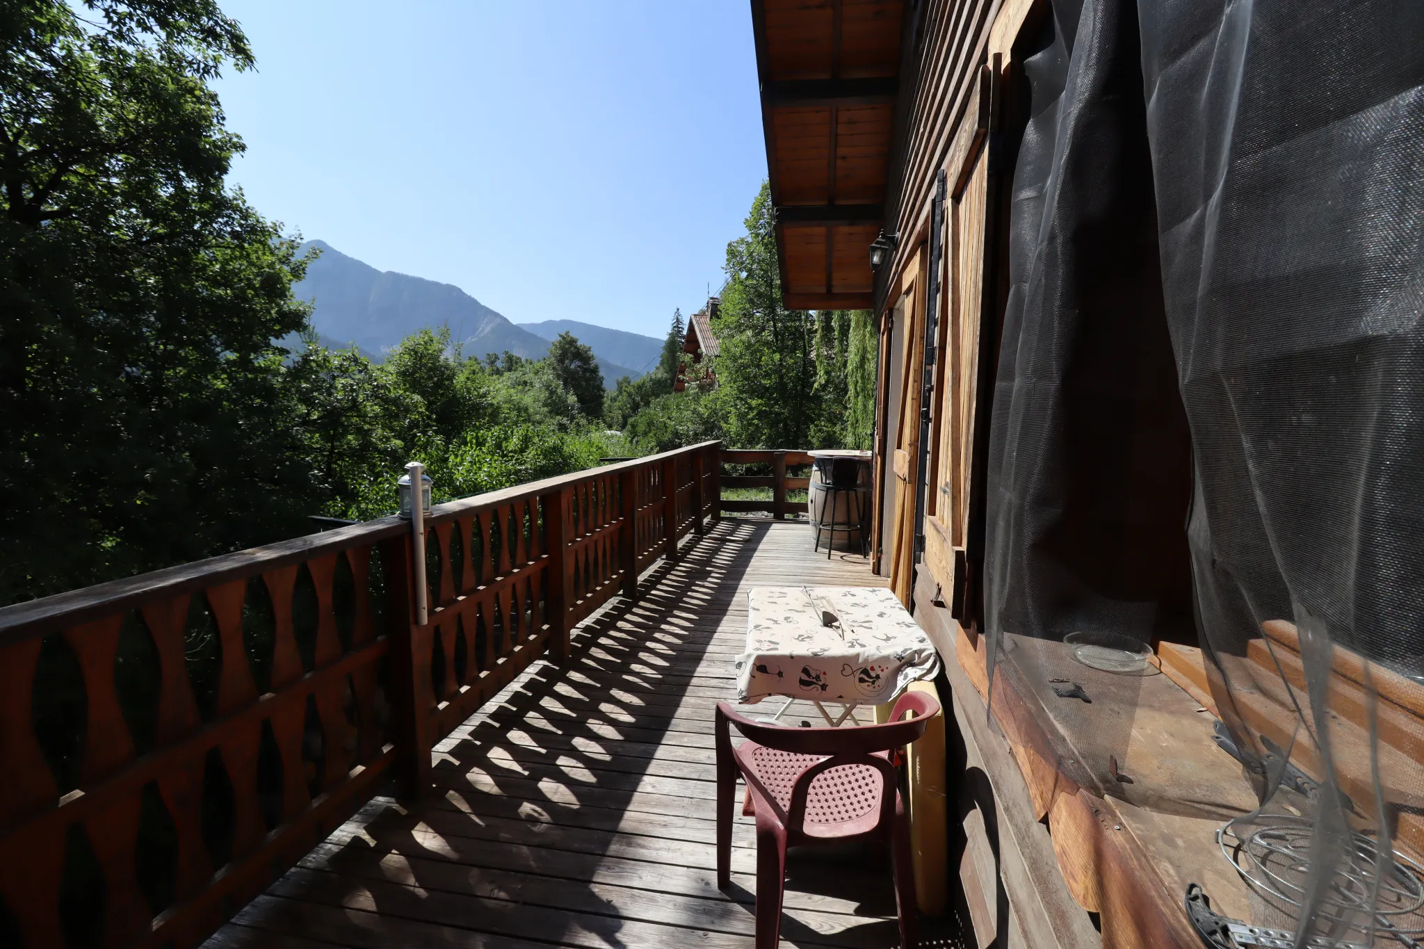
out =
<path fill-rule="evenodd" d="M 413 801 L 430 787 L 430 650 L 416 626 L 413 535 L 384 541 L 380 562 L 389 593 L 390 731 L 396 746 L 396 795 Z"/>

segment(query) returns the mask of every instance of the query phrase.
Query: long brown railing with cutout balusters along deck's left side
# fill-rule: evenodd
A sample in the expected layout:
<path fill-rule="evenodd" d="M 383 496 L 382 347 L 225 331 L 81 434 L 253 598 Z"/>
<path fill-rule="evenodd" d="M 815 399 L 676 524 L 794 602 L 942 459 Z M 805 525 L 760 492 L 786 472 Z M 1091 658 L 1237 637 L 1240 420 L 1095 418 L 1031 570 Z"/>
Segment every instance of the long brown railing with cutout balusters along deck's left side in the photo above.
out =
<path fill-rule="evenodd" d="M 0 609 L 0 945 L 197 945 L 384 778 L 419 795 L 436 741 L 716 516 L 722 454 L 436 507 L 419 626 L 397 518 Z"/>

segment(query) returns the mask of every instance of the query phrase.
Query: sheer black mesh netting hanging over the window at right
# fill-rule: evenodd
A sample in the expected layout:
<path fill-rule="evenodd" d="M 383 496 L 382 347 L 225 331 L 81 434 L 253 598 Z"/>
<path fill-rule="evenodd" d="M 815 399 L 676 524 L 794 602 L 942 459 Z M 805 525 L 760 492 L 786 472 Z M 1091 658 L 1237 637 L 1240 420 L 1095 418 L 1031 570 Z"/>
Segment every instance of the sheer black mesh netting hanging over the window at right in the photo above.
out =
<path fill-rule="evenodd" d="M 1054 0 L 1015 60 L 991 682 L 1079 784 L 1230 820 L 1265 925 L 1421 939 L 1424 3 Z M 1074 633 L 1199 646 L 1245 800 Z"/>

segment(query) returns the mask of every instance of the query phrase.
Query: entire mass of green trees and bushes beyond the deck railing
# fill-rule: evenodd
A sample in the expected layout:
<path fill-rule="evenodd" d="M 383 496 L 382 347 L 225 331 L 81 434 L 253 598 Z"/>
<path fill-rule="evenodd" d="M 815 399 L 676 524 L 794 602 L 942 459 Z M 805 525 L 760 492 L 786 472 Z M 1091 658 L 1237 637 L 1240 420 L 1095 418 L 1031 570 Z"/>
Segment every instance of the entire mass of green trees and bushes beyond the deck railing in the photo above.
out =
<path fill-rule="evenodd" d="M 780 306 L 765 186 L 685 391 L 681 312 L 611 393 L 567 333 L 538 360 L 318 344 L 299 239 L 225 185 L 208 83 L 252 63 L 212 0 L 0 10 L 0 603 L 387 514 L 412 460 L 447 499 L 709 438 L 869 442 L 874 327 Z"/>

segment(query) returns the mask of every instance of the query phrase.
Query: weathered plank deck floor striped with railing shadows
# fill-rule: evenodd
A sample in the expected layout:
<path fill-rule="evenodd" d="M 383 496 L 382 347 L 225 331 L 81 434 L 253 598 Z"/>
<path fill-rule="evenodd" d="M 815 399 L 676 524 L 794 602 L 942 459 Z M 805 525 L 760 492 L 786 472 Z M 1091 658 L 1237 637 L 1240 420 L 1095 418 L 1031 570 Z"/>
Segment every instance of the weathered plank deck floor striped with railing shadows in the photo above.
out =
<path fill-rule="evenodd" d="M 746 590 L 884 580 L 813 553 L 805 522 L 726 519 L 645 582 L 575 632 L 568 669 L 534 663 L 441 743 L 437 794 L 372 801 L 208 946 L 749 948 L 752 818 L 722 892 L 712 748 Z M 899 943 L 887 852 L 793 851 L 785 906 L 786 945 Z M 954 940 L 926 921 L 923 942 Z"/>

